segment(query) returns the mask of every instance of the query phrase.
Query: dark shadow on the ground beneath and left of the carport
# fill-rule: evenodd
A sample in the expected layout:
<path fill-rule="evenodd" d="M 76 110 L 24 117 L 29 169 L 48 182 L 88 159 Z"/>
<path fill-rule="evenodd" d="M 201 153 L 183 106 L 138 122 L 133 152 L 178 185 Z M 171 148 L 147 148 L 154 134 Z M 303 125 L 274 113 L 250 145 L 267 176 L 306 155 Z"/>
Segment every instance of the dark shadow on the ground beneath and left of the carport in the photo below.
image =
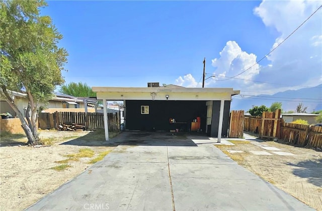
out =
<path fill-rule="evenodd" d="M 111 135 L 113 138 L 111 138 Z M 196 147 L 197 144 L 192 141 L 204 140 L 210 142 L 205 134 L 189 134 L 170 132 L 121 132 L 110 134 L 110 141 L 105 141 L 104 130 L 97 130 L 85 136 L 61 143 L 61 145 L 77 145 L 77 146 L 191 146 Z"/>

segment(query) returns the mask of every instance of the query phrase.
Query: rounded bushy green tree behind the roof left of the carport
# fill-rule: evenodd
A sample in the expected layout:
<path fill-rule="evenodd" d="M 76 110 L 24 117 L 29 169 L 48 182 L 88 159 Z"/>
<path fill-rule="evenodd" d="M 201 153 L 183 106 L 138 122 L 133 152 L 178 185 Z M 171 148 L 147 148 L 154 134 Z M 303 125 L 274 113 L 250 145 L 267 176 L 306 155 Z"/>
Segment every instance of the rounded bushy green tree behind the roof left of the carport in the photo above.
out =
<path fill-rule="evenodd" d="M 96 93 L 92 91 L 92 87 L 82 82 L 70 82 L 63 84 L 59 91 L 64 94 L 69 94 L 76 97 L 95 97 Z"/>

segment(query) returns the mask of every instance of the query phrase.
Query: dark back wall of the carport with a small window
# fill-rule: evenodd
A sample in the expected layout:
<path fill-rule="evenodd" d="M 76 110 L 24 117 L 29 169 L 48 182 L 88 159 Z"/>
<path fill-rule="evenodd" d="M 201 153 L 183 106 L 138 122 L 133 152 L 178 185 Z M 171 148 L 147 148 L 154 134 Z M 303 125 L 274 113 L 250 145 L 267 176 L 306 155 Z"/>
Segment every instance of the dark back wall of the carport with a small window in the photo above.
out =
<path fill-rule="evenodd" d="M 141 115 L 141 105 L 149 105 L 148 115 Z M 187 122 L 190 128 L 191 122 L 196 117 L 201 117 L 201 129 L 206 131 L 206 101 L 126 100 L 125 109 L 127 130 L 169 131 L 174 127 L 169 124 L 170 118 L 177 122 Z"/>

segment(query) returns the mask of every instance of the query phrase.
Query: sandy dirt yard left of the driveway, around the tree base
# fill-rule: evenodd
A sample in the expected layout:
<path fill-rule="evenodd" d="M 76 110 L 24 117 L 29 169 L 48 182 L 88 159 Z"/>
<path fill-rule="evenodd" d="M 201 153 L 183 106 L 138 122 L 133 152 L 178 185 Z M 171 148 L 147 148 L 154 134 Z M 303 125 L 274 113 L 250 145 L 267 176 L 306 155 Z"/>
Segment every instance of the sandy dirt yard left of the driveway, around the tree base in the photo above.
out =
<path fill-rule="evenodd" d="M 90 148 L 95 158 L 100 152 L 113 150 L 104 145 L 104 132 L 41 131 L 40 137 L 53 140 L 50 147 L 23 146 L 23 136 L 1 137 L 0 147 L 0 210 L 22 210 L 89 168 L 92 158 L 69 161 L 62 171 L 50 169 L 60 165 L 63 155 Z M 22 146 L 19 146 L 22 145 Z"/>

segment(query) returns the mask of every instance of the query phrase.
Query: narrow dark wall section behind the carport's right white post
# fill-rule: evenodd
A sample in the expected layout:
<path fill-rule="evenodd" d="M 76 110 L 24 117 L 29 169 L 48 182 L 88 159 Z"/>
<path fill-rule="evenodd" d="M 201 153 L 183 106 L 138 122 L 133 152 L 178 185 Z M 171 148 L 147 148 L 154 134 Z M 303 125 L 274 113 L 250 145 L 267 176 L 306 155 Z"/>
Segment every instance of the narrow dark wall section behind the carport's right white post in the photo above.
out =
<path fill-rule="evenodd" d="M 218 137 L 218 125 L 219 125 L 219 111 L 220 101 L 216 100 L 212 103 L 212 118 L 211 118 L 211 137 Z M 229 127 L 229 112 L 230 112 L 230 101 L 225 100 L 223 109 L 223 122 L 221 136 L 226 137 L 228 135 Z"/>

